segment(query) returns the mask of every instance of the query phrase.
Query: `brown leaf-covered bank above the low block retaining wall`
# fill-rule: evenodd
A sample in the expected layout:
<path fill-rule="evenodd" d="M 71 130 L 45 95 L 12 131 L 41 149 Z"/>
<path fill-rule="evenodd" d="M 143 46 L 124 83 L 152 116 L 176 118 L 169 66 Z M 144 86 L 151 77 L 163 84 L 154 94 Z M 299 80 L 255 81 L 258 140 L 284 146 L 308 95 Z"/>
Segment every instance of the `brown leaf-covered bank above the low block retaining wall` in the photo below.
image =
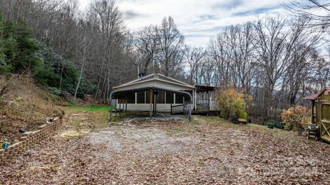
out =
<path fill-rule="evenodd" d="M 31 75 L 0 76 L 0 85 L 8 84 L 8 93 L 0 99 L 0 140 L 10 143 L 21 136 L 19 129 L 36 130 L 50 116 L 61 114 L 61 100 L 45 88 L 36 86 Z"/>

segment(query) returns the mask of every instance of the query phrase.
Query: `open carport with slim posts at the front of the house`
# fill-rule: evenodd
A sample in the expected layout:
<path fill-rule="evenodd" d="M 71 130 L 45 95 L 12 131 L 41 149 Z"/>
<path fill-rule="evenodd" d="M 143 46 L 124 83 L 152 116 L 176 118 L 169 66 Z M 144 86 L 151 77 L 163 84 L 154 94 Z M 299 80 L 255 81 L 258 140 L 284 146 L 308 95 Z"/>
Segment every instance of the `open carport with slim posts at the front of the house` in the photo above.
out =
<path fill-rule="evenodd" d="M 141 111 L 149 112 L 149 116 L 157 116 L 157 112 L 173 112 L 173 106 L 182 107 L 180 112 L 190 120 L 194 106 L 194 96 L 184 90 L 173 90 L 159 86 L 114 90 L 111 99 L 115 99 L 115 112 Z M 113 111 L 110 119 L 112 120 Z"/>

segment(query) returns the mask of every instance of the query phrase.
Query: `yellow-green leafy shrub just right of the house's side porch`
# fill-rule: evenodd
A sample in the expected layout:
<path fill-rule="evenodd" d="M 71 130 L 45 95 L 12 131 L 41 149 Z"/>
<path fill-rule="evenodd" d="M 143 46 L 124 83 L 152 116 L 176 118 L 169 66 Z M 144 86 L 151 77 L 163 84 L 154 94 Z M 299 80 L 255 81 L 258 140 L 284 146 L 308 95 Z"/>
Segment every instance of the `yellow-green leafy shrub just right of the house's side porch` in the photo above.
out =
<path fill-rule="evenodd" d="M 240 118 L 247 119 L 248 114 L 245 112 L 247 106 L 246 101 L 252 99 L 243 93 L 238 93 L 234 88 L 221 90 L 217 93 L 217 106 L 223 118 L 229 119 L 234 114 L 238 114 Z"/>

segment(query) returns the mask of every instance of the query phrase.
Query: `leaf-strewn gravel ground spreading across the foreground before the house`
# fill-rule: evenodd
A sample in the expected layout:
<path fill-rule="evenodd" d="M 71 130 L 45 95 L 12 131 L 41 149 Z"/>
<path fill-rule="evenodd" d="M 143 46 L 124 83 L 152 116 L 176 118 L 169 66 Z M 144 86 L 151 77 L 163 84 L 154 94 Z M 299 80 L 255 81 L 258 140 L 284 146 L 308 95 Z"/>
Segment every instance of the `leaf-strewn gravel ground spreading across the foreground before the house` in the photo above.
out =
<path fill-rule="evenodd" d="M 67 112 L 56 136 L 1 164 L 0 184 L 330 184 L 330 145 L 293 132 Z"/>

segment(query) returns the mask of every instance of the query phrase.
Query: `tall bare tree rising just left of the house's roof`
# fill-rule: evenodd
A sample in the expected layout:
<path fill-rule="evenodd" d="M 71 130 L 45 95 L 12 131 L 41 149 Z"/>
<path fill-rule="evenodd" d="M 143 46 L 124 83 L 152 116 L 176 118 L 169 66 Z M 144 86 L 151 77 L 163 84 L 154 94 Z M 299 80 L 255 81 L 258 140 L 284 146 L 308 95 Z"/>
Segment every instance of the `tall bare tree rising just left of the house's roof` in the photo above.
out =
<path fill-rule="evenodd" d="M 122 52 L 122 40 L 125 28 L 122 25 L 122 12 L 112 0 L 94 0 L 87 8 L 87 20 L 91 23 L 94 32 L 99 33 L 98 42 L 98 89 L 102 98 L 109 98 L 114 77 L 121 83 L 121 71 L 115 71 L 118 58 Z M 119 66 L 120 67 L 120 66 Z"/>

